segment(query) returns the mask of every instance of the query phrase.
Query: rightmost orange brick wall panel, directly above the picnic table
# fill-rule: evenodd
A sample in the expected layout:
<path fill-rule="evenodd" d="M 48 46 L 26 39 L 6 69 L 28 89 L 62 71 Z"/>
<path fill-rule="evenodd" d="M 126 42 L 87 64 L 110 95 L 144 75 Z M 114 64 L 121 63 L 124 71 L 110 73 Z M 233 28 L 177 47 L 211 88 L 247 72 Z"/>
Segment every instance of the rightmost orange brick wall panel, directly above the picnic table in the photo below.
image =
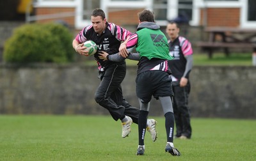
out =
<path fill-rule="evenodd" d="M 207 26 L 225 26 L 239 27 L 240 25 L 240 9 L 239 8 L 207 8 L 200 12 L 200 24 L 204 25 L 204 20 L 207 21 Z M 205 18 L 206 14 L 206 18 Z"/>

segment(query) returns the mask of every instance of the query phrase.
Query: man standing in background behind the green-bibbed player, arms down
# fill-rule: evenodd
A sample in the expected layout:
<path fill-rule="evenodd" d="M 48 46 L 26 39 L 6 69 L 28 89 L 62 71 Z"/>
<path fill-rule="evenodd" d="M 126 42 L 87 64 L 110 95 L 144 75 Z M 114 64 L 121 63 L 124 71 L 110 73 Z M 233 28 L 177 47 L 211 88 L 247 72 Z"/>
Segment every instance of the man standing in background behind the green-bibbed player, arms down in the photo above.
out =
<path fill-rule="evenodd" d="M 168 61 L 172 70 L 173 82 L 173 112 L 175 116 L 176 134 L 179 139 L 190 139 L 192 128 L 188 107 L 190 92 L 189 73 L 193 66 L 193 49 L 191 43 L 184 37 L 179 36 L 179 26 L 171 21 L 166 26 L 170 56 L 174 59 Z"/>

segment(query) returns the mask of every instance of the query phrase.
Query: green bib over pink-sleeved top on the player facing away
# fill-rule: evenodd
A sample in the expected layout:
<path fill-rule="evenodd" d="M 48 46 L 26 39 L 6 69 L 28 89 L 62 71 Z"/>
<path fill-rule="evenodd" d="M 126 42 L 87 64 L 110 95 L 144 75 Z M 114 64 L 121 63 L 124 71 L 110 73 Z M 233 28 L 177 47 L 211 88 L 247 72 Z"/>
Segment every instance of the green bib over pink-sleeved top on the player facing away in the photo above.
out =
<path fill-rule="evenodd" d="M 126 45 L 129 52 L 136 47 L 140 54 L 137 74 L 148 70 L 171 73 L 168 60 L 173 57 L 169 54 L 168 40 L 156 23 L 141 22 Z"/>

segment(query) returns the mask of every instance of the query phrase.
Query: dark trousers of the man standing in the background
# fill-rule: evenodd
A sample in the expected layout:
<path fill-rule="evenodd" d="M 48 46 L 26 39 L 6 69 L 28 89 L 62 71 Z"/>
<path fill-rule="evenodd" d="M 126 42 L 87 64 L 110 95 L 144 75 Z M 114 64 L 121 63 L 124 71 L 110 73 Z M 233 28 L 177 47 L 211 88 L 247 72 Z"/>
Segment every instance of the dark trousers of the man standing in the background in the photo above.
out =
<path fill-rule="evenodd" d="M 176 136 L 185 135 L 190 138 L 192 128 L 190 124 L 190 112 L 188 107 L 188 96 L 190 92 L 190 84 L 181 88 L 180 86 L 173 86 L 173 112 L 176 125 Z"/>

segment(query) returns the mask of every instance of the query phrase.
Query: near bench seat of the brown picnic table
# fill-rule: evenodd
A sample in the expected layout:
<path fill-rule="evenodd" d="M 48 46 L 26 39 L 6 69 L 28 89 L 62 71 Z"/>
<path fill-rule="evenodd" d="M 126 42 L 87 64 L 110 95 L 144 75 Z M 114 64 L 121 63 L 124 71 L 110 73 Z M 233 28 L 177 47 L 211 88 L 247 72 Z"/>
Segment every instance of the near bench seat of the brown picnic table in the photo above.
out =
<path fill-rule="evenodd" d="M 224 49 L 225 55 L 229 55 L 228 48 L 252 48 L 254 51 L 256 49 L 256 43 L 234 43 L 234 42 L 197 42 L 197 47 L 201 47 L 202 50 L 205 50 L 208 53 L 209 58 L 212 58 L 213 51 L 216 49 Z"/>

